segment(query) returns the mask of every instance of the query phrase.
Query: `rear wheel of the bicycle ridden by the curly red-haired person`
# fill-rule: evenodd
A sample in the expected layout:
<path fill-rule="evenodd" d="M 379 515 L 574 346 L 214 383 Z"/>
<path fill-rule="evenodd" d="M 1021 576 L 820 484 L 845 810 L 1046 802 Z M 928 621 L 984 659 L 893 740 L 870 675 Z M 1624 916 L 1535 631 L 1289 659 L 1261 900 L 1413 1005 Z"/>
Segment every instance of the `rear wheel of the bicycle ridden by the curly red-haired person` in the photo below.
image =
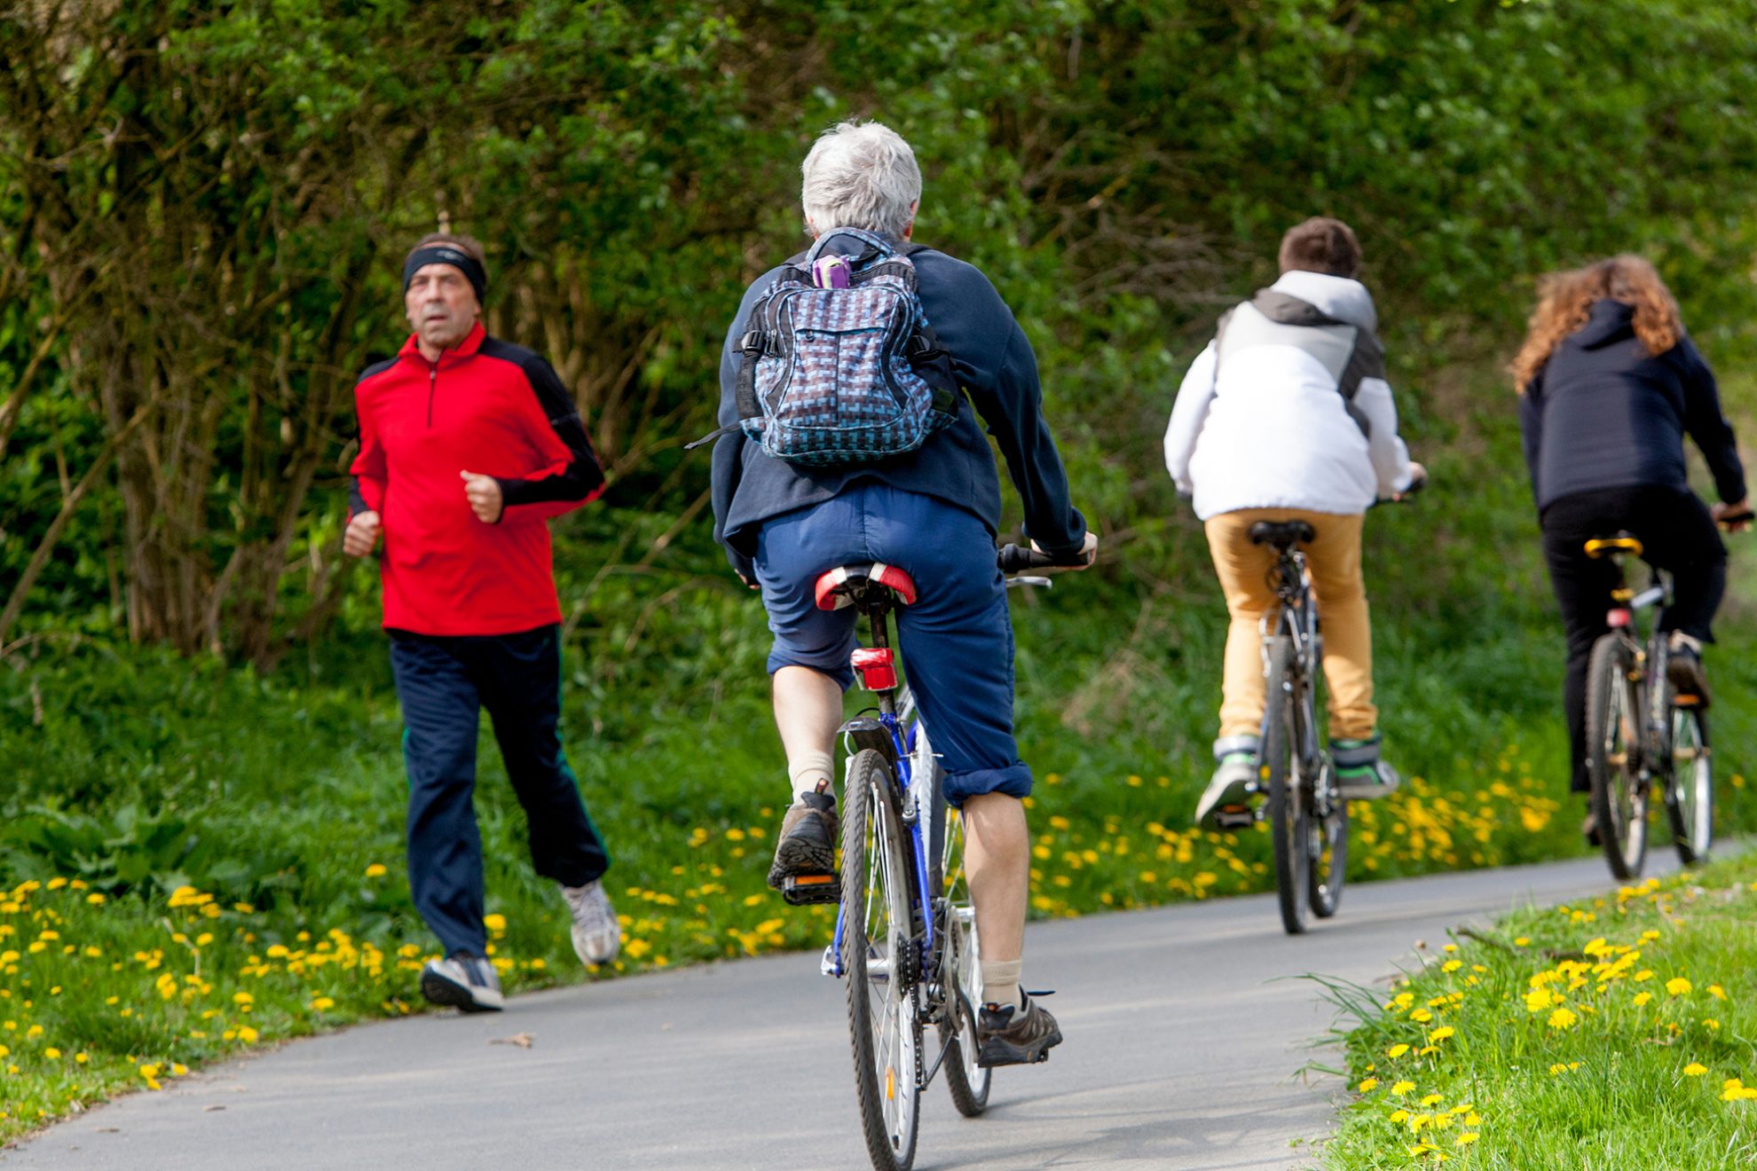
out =
<path fill-rule="evenodd" d="M 1622 881 L 1646 866 L 1648 794 L 1641 779 L 1643 704 L 1630 676 L 1634 648 L 1616 634 L 1592 644 L 1587 664 L 1587 776 L 1604 860 Z"/>

